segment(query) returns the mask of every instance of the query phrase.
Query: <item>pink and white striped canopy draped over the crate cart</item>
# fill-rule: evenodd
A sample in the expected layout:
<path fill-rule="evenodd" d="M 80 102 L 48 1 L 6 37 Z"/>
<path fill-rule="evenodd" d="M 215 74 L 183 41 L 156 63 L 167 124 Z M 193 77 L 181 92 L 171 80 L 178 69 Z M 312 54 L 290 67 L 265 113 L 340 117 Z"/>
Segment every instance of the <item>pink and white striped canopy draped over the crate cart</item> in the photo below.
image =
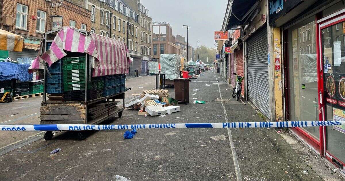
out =
<path fill-rule="evenodd" d="M 92 77 L 128 73 L 131 58 L 124 42 L 90 33 L 85 35 L 71 27 L 62 28 L 55 36 L 50 49 L 32 63 L 30 69 L 42 69 L 43 61 L 49 67 L 67 56 L 63 50 L 87 53 L 92 56 Z"/>

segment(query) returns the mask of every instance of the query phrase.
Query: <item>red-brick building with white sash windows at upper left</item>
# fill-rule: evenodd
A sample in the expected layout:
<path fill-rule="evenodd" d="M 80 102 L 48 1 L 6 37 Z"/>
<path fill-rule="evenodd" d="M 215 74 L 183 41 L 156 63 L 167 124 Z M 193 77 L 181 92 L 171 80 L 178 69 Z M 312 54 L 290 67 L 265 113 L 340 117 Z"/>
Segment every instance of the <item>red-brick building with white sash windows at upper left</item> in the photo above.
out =
<path fill-rule="evenodd" d="M 24 37 L 23 51 L 9 53 L 13 60 L 36 58 L 43 34 L 53 27 L 91 28 L 91 12 L 69 0 L 0 0 L 0 14 L 0 29 Z"/>

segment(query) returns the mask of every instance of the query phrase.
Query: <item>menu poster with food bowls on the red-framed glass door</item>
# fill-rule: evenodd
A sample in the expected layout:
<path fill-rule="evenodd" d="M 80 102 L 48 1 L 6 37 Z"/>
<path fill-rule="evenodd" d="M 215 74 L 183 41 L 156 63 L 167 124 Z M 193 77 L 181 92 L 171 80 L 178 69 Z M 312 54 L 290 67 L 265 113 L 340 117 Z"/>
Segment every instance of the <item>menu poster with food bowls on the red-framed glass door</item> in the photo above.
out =
<path fill-rule="evenodd" d="M 325 99 L 332 107 L 345 109 L 345 74 L 324 74 Z"/>

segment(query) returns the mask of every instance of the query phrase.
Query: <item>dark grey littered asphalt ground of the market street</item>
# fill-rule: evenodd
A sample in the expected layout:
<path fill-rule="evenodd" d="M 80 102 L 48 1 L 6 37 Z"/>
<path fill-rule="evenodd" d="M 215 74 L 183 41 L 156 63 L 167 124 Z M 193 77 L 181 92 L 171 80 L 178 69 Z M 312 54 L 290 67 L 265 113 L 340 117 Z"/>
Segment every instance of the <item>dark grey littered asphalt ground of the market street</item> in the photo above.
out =
<path fill-rule="evenodd" d="M 151 85 L 147 82 L 152 81 L 147 81 L 147 78 L 150 77 L 143 78 L 133 88 L 154 88 L 155 82 Z M 140 93 L 142 89 L 132 89 L 132 93 Z M 174 88 L 167 89 L 174 97 Z M 114 117 L 104 124 L 263 121 L 249 102 L 236 101 L 231 94 L 232 88 L 219 74 L 207 71 L 190 82 L 190 102 L 179 104 L 181 112 L 145 118 L 126 109 L 121 118 Z M 192 98 L 206 103 L 193 104 Z M 39 115 L 15 123 L 39 122 L 36 116 Z M 0 155 L 0 180 L 116 180 L 115 175 L 132 181 L 318 181 L 325 177 L 342 180 L 321 162 L 316 165 L 321 165 L 319 170 L 323 172 L 314 169 L 310 163 L 317 157 L 311 153 L 309 160 L 305 161 L 304 153 L 293 146 L 299 143 L 291 145 L 287 141 L 287 138 L 293 140 L 288 131 L 277 131 L 260 128 L 139 129 L 129 140 L 123 138 L 125 130 L 93 131 L 83 141 L 77 140 L 77 132 L 56 132 L 52 140 L 38 139 Z M 24 133 L 13 132 L 11 136 L 17 137 L 18 134 Z M 7 141 L 4 137 L 0 140 Z M 48 154 L 56 148 L 61 148 L 61 151 Z"/>

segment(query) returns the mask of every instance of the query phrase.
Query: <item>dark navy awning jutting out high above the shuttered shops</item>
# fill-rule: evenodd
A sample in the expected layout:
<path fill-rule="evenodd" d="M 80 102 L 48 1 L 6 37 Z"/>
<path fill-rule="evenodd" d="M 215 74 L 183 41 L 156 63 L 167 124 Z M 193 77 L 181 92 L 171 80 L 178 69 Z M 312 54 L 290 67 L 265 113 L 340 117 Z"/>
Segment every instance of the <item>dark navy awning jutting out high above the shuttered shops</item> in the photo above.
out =
<path fill-rule="evenodd" d="M 227 31 L 243 25 L 258 6 L 257 0 L 230 0 L 223 22 L 223 30 Z"/>

